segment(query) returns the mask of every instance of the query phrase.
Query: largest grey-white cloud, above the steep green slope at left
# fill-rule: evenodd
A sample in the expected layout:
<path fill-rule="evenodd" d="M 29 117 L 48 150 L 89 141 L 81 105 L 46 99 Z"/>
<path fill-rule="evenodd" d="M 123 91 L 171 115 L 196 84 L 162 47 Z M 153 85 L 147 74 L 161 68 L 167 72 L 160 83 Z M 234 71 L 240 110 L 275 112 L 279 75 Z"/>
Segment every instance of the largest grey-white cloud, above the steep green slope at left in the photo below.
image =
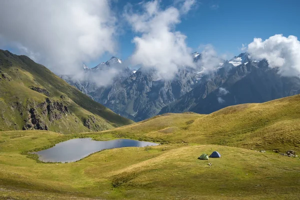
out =
<path fill-rule="evenodd" d="M 108 0 L 1 0 L 0 36 L 57 74 L 115 50 Z"/>

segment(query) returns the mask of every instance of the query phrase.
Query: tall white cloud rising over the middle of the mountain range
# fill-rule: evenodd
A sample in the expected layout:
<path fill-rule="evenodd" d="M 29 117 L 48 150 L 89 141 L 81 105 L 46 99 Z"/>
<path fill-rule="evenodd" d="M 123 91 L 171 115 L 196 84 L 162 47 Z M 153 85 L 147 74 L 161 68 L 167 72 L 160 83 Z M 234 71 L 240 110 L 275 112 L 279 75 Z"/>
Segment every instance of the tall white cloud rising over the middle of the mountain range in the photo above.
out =
<path fill-rule="evenodd" d="M 172 78 L 182 65 L 193 66 L 191 49 L 185 43 L 186 36 L 174 30 L 180 23 L 180 16 L 186 13 L 194 0 L 185 0 L 181 7 L 160 7 L 158 0 L 139 4 L 142 12 L 133 12 L 127 8 L 126 20 L 134 32 L 135 50 L 130 57 L 132 64 L 140 64 L 144 68 L 154 68 L 160 78 Z M 131 7 L 132 8 L 132 7 Z M 181 11 L 180 11 L 181 10 Z M 183 11 L 182 11 L 183 10 Z"/>

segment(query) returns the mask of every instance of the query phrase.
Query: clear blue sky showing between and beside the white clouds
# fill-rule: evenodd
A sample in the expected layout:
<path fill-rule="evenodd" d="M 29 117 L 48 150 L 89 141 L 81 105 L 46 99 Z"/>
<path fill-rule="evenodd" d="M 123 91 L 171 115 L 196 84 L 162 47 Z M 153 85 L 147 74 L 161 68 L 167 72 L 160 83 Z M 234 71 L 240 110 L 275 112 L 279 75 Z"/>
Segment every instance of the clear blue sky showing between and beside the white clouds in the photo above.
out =
<path fill-rule="evenodd" d="M 132 4 L 140 0 L 129 1 Z M 172 0 L 163 0 L 169 6 Z M 119 13 L 125 2 L 112 4 Z M 181 17 L 175 30 L 187 36 L 186 43 L 194 51 L 201 44 L 212 44 L 218 54 L 228 56 L 241 52 L 241 44 L 248 44 L 254 37 L 267 39 L 274 34 L 300 37 L 300 0 L 198 0 L 196 7 Z M 131 42 L 135 33 L 123 27 L 118 37 L 116 56 L 126 59 L 134 50 Z M 105 54 L 90 63 L 90 67 L 109 59 Z"/>

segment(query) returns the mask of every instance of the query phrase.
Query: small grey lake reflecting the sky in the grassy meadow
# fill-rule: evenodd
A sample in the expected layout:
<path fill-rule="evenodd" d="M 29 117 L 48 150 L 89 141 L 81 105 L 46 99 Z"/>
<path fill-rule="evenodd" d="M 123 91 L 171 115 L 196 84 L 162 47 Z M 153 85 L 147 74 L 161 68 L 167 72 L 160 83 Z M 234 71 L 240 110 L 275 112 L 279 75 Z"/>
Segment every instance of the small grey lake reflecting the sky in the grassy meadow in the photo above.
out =
<path fill-rule="evenodd" d="M 115 139 L 108 141 L 96 141 L 91 138 L 77 138 L 70 139 L 55 144 L 55 146 L 33 152 L 39 155 L 39 160 L 44 162 L 74 162 L 87 155 L 111 148 L 120 147 L 144 147 L 144 146 L 155 146 L 158 143 L 148 141 L 138 141 L 133 139 Z"/>

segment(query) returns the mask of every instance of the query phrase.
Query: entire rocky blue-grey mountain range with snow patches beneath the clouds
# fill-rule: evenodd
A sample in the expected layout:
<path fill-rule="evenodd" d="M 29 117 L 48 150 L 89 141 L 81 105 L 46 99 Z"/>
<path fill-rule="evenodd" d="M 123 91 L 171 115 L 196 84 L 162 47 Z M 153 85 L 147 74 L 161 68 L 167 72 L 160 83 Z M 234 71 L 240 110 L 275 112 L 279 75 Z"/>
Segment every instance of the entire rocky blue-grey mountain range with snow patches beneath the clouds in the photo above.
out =
<path fill-rule="evenodd" d="M 191 56 L 195 63 L 201 63 L 201 53 Z M 90 78 L 89 74 L 101 73 L 111 66 L 121 68 L 111 84 L 98 86 Z M 252 60 L 247 52 L 230 60 L 219 59 L 219 65 L 210 71 L 204 65 L 181 67 L 170 80 L 158 79 L 154 69 L 131 70 L 117 57 L 83 70 L 84 80 L 62 78 L 134 121 L 165 112 L 211 113 L 229 105 L 265 102 L 300 93 L 298 77 L 281 76 L 277 68 L 268 67 L 265 59 Z"/>

